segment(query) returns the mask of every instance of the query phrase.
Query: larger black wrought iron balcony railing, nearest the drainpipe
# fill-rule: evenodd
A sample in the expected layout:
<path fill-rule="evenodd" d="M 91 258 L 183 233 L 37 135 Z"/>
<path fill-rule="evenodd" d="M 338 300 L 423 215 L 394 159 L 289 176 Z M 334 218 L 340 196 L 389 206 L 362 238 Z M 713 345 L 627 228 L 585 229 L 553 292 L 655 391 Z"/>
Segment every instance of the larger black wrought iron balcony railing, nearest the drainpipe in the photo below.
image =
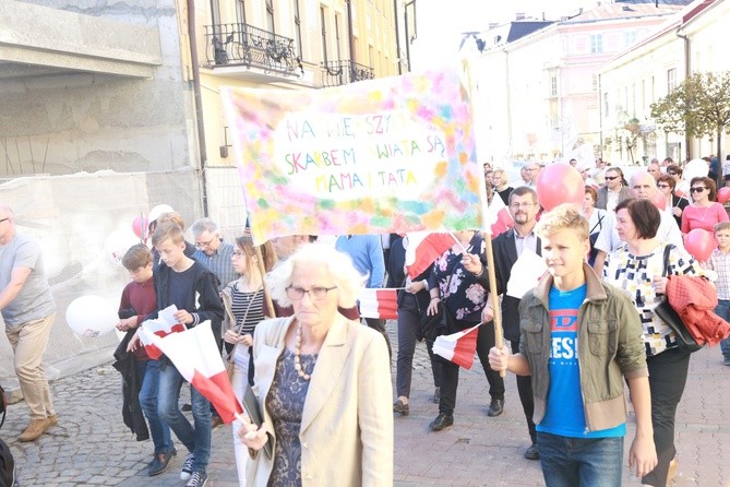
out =
<path fill-rule="evenodd" d="M 304 73 L 294 39 L 249 24 L 205 26 L 208 67 L 246 66 L 286 76 Z"/>

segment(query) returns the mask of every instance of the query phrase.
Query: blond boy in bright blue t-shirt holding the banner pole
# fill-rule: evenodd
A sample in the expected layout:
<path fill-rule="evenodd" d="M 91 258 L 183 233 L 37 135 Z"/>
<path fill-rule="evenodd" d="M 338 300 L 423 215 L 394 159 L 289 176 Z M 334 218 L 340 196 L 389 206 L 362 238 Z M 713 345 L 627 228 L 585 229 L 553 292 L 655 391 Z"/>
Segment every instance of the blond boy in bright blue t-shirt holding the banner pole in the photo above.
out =
<path fill-rule="evenodd" d="M 542 475 L 553 486 L 620 486 L 629 383 L 636 475 L 657 464 L 651 407 L 636 309 L 585 263 L 588 222 L 571 205 L 536 227 L 548 273 L 519 305 L 519 353 L 492 348 L 494 370 L 531 376 Z"/>

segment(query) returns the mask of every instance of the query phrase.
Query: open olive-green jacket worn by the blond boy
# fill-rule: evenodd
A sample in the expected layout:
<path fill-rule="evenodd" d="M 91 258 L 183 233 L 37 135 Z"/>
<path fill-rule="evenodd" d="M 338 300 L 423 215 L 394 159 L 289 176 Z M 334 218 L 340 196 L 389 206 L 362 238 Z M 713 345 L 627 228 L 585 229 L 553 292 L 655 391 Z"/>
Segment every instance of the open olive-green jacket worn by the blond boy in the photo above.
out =
<path fill-rule="evenodd" d="M 587 289 L 578 308 L 578 365 L 586 427 L 597 431 L 625 423 L 624 377 L 648 377 L 649 372 L 636 308 L 622 290 L 601 283 L 588 264 L 583 268 Z M 519 353 L 529 363 L 536 424 L 544 416 L 550 388 L 552 282 L 547 274 L 519 304 Z"/>

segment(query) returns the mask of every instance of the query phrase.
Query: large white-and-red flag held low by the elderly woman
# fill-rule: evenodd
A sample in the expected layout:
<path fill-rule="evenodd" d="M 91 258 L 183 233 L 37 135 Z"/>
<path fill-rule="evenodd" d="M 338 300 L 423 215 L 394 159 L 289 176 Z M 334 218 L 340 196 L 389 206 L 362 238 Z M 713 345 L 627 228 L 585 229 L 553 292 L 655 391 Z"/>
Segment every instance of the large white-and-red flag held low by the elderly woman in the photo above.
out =
<path fill-rule="evenodd" d="M 140 338 L 152 343 L 172 361 L 180 375 L 192 384 L 213 406 L 226 424 L 243 412 L 234 394 L 226 366 L 215 344 L 211 321 L 160 337 L 144 326 L 140 328 Z"/>

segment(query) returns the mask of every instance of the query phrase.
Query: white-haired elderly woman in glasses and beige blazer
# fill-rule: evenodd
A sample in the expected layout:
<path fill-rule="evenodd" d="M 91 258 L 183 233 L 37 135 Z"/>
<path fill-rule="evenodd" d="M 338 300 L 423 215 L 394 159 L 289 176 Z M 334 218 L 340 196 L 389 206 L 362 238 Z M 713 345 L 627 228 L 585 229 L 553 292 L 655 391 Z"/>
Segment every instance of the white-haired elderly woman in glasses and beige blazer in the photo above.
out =
<path fill-rule="evenodd" d="M 363 289 L 348 256 L 306 245 L 266 277 L 294 316 L 259 323 L 253 393 L 264 421 L 241 441 L 251 486 L 393 485 L 393 409 L 383 335 L 339 311 Z M 273 447 L 268 458 L 263 449 Z"/>

